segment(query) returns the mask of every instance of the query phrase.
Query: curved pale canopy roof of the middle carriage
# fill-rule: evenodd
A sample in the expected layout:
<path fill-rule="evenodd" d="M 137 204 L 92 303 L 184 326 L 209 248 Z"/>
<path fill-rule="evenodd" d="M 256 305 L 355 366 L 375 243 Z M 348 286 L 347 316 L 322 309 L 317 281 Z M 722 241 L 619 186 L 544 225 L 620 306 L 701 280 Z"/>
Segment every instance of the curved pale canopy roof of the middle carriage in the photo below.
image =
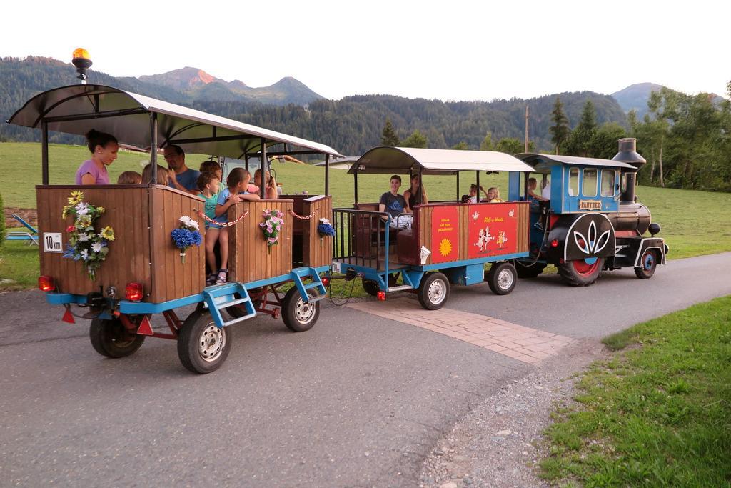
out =
<path fill-rule="evenodd" d="M 532 171 L 533 168 L 503 152 L 379 146 L 366 151 L 348 173 L 388 174 L 409 170 L 444 175 L 459 171 Z"/>

